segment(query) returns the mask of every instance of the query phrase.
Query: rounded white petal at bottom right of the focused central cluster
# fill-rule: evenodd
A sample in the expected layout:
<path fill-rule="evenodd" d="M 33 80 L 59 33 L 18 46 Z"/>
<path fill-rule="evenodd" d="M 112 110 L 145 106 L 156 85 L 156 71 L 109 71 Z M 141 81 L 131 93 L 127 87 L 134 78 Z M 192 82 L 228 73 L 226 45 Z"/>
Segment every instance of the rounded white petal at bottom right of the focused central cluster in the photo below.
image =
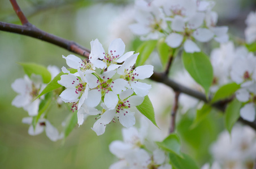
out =
<path fill-rule="evenodd" d="M 128 113 L 126 113 L 128 112 Z M 129 112 L 127 109 L 124 109 L 123 111 L 120 110 L 119 113 L 119 122 L 124 126 L 124 127 L 132 127 L 135 124 L 135 117 L 134 117 L 134 112 Z"/>

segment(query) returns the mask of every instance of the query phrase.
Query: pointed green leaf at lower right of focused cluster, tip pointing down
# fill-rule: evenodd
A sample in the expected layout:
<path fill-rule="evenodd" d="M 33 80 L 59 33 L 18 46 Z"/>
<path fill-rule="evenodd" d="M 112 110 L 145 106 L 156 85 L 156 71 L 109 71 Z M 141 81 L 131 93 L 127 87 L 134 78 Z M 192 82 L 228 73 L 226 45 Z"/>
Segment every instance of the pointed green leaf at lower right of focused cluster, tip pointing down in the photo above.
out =
<path fill-rule="evenodd" d="M 146 95 L 142 104 L 136 106 L 136 108 L 141 112 L 141 114 L 145 115 L 153 124 L 155 124 L 155 126 L 157 126 L 157 123 L 155 122 L 154 108 L 149 96 Z"/>

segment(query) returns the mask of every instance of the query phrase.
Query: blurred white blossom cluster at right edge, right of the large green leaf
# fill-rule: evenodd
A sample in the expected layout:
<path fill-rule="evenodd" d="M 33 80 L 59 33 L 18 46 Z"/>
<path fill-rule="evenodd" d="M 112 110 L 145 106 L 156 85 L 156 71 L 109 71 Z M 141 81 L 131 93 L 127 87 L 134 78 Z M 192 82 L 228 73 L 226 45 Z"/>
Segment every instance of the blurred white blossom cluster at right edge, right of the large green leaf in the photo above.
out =
<path fill-rule="evenodd" d="M 211 52 L 214 68 L 214 81 L 211 91 L 216 92 L 220 86 L 230 82 L 240 84 L 236 92 L 237 100 L 244 103 L 240 115 L 247 121 L 255 120 L 256 98 L 256 57 L 245 47 L 237 47 L 232 42 L 223 43 Z"/>

